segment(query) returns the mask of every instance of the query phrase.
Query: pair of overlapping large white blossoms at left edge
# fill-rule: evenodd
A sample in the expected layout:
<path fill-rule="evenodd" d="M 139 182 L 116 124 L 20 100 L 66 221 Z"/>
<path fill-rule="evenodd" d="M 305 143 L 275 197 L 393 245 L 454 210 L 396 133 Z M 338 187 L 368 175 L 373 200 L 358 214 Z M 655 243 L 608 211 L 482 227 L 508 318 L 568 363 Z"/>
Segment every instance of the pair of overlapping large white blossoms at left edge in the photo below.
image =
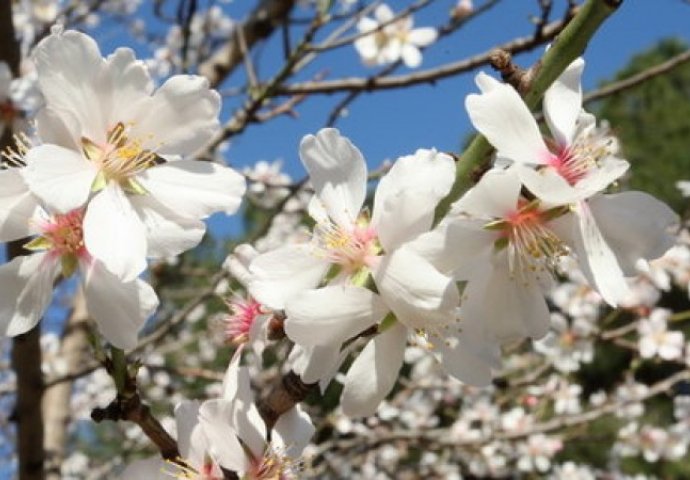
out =
<path fill-rule="evenodd" d="M 147 258 L 201 240 L 201 221 L 233 213 L 244 178 L 193 160 L 218 130 L 220 98 L 206 80 L 153 82 L 129 49 L 102 58 L 90 37 L 60 28 L 33 51 L 44 104 L 36 145 L 18 138 L 0 171 L 0 239 L 34 238 L 0 267 L 0 331 L 33 328 L 59 278 L 79 272 L 105 339 L 131 349 L 158 305 L 139 278 Z"/>

